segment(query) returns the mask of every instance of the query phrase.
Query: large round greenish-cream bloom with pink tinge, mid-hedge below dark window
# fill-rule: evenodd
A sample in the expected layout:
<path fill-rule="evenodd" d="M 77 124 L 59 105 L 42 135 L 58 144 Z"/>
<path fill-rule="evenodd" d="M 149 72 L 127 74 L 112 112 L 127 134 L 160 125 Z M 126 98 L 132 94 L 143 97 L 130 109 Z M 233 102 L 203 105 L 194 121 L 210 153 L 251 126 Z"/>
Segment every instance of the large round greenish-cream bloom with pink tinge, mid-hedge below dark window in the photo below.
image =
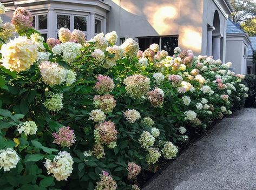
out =
<path fill-rule="evenodd" d="M 150 79 L 142 76 L 141 74 L 135 74 L 125 78 L 123 80 L 123 84 L 126 85 L 126 91 L 130 94 L 130 97 L 140 99 L 149 90 Z"/>

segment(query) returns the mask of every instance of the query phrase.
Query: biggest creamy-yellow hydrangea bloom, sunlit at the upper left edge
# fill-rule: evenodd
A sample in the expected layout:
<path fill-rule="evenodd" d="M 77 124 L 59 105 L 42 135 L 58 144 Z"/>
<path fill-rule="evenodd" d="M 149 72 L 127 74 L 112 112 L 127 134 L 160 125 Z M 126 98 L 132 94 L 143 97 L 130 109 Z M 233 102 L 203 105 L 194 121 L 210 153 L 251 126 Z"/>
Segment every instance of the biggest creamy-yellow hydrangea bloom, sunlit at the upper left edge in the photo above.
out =
<path fill-rule="evenodd" d="M 1 53 L 2 65 L 10 71 L 20 72 L 30 69 L 37 60 L 37 46 L 24 36 L 3 44 Z"/>

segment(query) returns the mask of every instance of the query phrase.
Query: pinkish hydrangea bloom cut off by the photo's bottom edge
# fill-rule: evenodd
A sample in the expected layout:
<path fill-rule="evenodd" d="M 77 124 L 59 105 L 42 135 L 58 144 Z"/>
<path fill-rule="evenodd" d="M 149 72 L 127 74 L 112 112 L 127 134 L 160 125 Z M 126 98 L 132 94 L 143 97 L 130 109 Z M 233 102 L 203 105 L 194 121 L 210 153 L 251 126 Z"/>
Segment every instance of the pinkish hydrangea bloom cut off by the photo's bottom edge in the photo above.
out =
<path fill-rule="evenodd" d="M 115 190 L 117 188 L 116 182 L 108 172 L 102 171 L 100 174 L 100 181 L 96 183 L 95 190 Z"/>

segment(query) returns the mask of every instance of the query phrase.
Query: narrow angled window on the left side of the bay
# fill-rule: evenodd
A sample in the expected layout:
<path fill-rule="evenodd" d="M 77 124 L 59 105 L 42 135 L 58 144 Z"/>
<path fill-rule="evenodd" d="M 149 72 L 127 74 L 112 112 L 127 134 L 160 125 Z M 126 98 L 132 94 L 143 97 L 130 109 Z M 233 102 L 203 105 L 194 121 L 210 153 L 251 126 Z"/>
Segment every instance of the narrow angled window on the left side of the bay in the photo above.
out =
<path fill-rule="evenodd" d="M 47 13 L 38 13 L 33 15 L 33 27 L 41 33 L 44 37 L 44 40 L 48 38 L 48 14 Z"/>

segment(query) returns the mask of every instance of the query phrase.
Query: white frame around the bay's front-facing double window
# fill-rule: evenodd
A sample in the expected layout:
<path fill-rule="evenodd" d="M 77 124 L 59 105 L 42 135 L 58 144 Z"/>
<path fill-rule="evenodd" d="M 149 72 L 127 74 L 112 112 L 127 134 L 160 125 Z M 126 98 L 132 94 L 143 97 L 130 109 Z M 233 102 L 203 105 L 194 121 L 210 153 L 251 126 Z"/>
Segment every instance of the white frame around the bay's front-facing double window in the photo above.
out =
<path fill-rule="evenodd" d="M 88 39 L 88 34 L 89 34 L 89 29 L 88 29 L 89 28 L 89 15 L 88 14 L 82 14 L 82 13 L 77 13 L 77 12 L 56 12 L 55 15 L 56 15 L 56 26 L 55 26 L 56 38 L 57 38 L 58 30 L 60 30 L 60 29 L 58 29 L 58 15 L 68 15 L 68 16 L 70 16 L 70 31 L 74 30 L 74 26 L 75 26 L 74 18 L 75 18 L 75 16 L 77 16 L 77 17 L 86 17 L 86 20 L 87 20 L 86 29 L 87 29 L 87 31 L 83 31 L 83 32 L 86 34 L 86 37 Z"/>

